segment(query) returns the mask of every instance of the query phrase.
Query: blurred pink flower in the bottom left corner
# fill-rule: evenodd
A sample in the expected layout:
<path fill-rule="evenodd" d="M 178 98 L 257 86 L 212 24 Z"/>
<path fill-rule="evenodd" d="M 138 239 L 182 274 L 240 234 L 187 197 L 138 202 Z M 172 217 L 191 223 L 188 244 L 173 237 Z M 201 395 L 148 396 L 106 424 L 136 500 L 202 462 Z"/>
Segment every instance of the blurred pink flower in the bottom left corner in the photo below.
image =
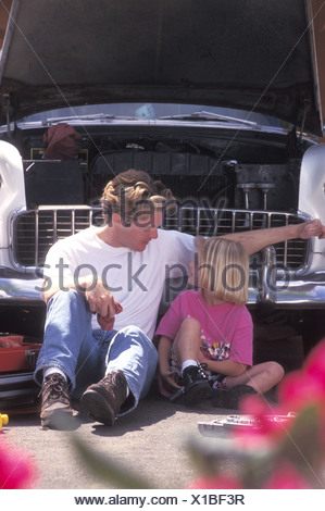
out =
<path fill-rule="evenodd" d="M 0 436 L 0 488 L 30 488 L 36 482 L 36 468 L 30 457 L 9 445 Z"/>

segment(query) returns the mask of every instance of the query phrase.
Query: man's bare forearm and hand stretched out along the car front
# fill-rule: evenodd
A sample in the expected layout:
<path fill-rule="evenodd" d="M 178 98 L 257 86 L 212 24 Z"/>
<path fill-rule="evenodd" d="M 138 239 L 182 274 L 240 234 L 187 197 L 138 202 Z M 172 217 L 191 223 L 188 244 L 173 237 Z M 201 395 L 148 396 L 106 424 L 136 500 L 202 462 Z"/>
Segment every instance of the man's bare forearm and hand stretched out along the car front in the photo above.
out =
<path fill-rule="evenodd" d="M 252 254 L 267 245 L 274 245 L 279 241 L 293 238 L 309 239 L 312 236 L 325 238 L 325 226 L 322 225 L 322 222 L 317 219 L 297 225 L 272 227 L 270 229 L 245 230 L 242 233 L 233 233 L 223 237 L 239 241 L 247 253 Z"/>

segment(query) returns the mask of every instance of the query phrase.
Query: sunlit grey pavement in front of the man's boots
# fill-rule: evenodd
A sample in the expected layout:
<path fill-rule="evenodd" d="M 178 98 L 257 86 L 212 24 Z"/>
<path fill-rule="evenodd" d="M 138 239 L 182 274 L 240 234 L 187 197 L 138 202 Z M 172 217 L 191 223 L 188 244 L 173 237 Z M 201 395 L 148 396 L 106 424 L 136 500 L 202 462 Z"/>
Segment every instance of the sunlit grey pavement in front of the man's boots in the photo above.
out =
<path fill-rule="evenodd" d="M 189 410 L 165 400 L 153 387 L 138 409 L 120 417 L 113 427 L 83 417 L 74 433 L 45 431 L 38 414 L 9 412 L 9 424 L 2 431 L 10 443 L 32 453 L 39 473 L 38 489 L 115 486 L 89 472 L 72 436 L 114 461 L 123 471 L 148 482 L 148 488 L 180 489 L 198 474 L 187 449 L 190 438 L 202 438 L 198 422 L 211 421 L 221 413 L 229 411 L 216 409 L 208 401 Z"/>

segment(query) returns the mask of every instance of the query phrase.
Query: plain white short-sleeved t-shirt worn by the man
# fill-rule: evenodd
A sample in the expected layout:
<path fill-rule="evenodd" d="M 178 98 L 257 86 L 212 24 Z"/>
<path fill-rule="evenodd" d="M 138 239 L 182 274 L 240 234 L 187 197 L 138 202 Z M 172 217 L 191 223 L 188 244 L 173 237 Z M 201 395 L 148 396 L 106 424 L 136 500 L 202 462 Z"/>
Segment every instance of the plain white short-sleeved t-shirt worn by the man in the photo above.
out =
<path fill-rule="evenodd" d="M 135 325 L 151 339 L 165 278 L 187 275 L 192 260 L 193 237 L 177 230 L 158 230 L 142 251 L 112 247 L 88 227 L 53 245 L 45 262 L 45 278 L 78 283 L 78 276 L 100 276 L 108 284 L 123 312 L 116 314 L 114 329 Z M 50 285 L 50 284 L 48 284 Z M 60 287 L 61 287 L 60 286 Z M 99 328 L 96 314 L 93 328 Z"/>

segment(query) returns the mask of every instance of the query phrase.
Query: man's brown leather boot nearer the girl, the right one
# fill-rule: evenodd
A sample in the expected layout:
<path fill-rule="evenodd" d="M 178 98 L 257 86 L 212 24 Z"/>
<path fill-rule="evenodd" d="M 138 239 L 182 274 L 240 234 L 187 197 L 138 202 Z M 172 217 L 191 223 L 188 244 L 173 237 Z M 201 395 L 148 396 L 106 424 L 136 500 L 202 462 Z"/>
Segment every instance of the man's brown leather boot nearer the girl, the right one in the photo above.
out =
<path fill-rule="evenodd" d="M 96 421 L 112 426 L 126 397 L 126 377 L 122 371 L 113 371 L 97 384 L 90 385 L 80 401 Z"/>

